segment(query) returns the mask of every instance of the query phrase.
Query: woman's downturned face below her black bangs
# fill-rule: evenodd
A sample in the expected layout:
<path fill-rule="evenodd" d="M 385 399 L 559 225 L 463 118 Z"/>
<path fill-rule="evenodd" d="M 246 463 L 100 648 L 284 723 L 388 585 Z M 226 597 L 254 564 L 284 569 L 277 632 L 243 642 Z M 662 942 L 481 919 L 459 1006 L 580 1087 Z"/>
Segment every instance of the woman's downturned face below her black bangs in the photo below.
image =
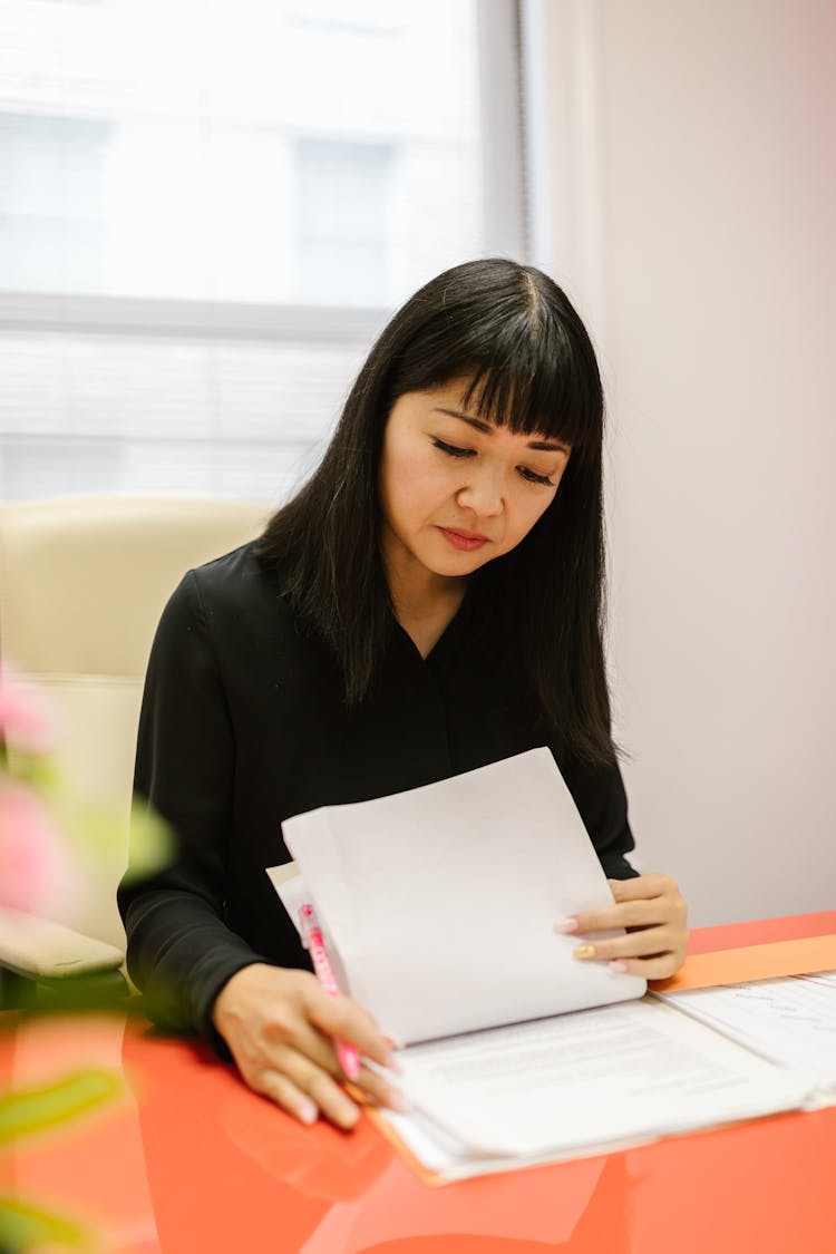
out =
<path fill-rule="evenodd" d="M 519 544 L 558 490 L 569 446 L 484 421 L 465 409 L 466 387 L 406 393 L 392 406 L 380 470 L 390 574 L 468 576 Z"/>

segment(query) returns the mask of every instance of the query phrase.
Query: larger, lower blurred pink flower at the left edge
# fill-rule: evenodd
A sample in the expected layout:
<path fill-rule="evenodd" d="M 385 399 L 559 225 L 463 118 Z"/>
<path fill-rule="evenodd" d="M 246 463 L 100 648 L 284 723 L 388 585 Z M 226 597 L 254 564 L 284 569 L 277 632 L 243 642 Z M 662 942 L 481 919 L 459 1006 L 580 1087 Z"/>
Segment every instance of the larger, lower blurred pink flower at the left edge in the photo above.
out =
<path fill-rule="evenodd" d="M 49 915 L 75 888 L 69 851 L 46 806 L 0 776 L 0 907 Z"/>

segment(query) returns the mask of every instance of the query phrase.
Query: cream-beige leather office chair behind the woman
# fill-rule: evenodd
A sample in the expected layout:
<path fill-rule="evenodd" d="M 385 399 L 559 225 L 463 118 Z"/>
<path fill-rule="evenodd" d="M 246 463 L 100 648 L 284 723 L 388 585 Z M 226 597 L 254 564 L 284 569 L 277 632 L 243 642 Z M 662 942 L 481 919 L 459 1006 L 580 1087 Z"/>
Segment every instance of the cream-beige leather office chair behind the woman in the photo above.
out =
<path fill-rule="evenodd" d="M 59 721 L 74 790 L 115 806 L 112 848 L 85 867 L 63 917 L 0 909 L 3 988 L 115 971 L 115 905 L 143 678 L 154 628 L 183 573 L 252 539 L 271 507 L 177 498 L 68 498 L 0 507 L 0 657 L 41 690 Z M 6 996 L 6 1002 L 9 997 Z"/>

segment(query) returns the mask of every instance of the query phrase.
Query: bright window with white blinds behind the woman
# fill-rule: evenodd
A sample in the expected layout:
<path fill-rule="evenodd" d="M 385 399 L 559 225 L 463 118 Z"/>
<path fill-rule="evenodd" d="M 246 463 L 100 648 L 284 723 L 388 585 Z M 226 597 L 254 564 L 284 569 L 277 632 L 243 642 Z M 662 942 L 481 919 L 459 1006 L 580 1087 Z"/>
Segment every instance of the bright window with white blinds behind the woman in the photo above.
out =
<path fill-rule="evenodd" d="M 521 217 L 519 153 L 484 120 L 515 108 L 515 21 L 505 0 L 4 0 L 3 499 L 287 494 L 389 312 L 523 251 L 495 228 Z"/>

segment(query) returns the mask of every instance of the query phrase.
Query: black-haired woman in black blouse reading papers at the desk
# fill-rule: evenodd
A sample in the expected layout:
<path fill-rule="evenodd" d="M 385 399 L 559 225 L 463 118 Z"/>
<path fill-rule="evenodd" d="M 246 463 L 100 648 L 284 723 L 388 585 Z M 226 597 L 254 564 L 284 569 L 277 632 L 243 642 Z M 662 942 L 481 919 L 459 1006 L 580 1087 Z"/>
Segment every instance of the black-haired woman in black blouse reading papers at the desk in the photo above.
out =
<path fill-rule="evenodd" d="M 201 1031 L 303 1122 L 356 1120 L 333 1038 L 391 1051 L 320 988 L 264 874 L 291 814 L 548 745 L 615 898 L 562 924 L 579 961 L 654 978 L 683 959 L 677 885 L 625 859 L 602 440 L 595 356 L 560 288 L 511 261 L 457 266 L 382 332 L 307 485 L 165 608 L 135 786 L 178 851 L 120 889 L 129 969 L 154 1018 Z M 399 1104 L 370 1068 L 358 1085 Z"/>

